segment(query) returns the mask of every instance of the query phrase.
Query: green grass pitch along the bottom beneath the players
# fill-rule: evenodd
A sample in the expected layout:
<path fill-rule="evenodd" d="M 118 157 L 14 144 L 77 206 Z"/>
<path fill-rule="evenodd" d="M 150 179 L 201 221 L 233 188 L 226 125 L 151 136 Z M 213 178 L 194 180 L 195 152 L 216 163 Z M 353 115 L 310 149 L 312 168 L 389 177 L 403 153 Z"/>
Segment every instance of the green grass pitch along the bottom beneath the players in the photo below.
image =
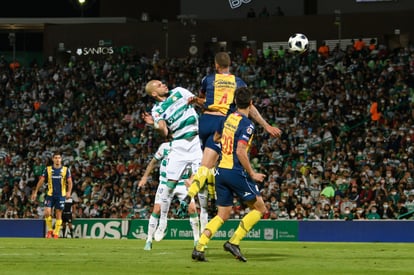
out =
<path fill-rule="evenodd" d="M 212 240 L 209 262 L 191 259 L 192 241 L 0 238 L 0 274 L 414 274 L 413 243 L 244 241 L 247 262 Z"/>

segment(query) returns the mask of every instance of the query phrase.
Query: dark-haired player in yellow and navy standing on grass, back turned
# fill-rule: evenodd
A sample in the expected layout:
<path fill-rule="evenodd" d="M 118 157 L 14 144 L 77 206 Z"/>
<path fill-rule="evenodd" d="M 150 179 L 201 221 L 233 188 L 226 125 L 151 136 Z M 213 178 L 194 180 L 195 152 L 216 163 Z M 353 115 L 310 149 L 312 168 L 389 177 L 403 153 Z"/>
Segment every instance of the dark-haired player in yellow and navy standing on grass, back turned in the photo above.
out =
<path fill-rule="evenodd" d="M 196 261 L 206 261 L 204 249 L 217 230 L 229 219 L 233 208 L 233 194 L 250 208 L 233 236 L 224 244 L 224 250 L 233 254 L 238 260 L 247 261 L 240 251 L 239 243 L 266 211 L 256 184 L 262 182 L 265 175 L 253 170 L 248 157 L 254 133 L 254 125 L 248 118 L 252 107 L 252 93 L 248 88 L 242 87 L 236 90 L 235 97 L 237 111 L 225 120 L 220 137 L 218 133 L 215 135 L 215 140 L 220 140 L 221 143 L 221 156 L 215 182 L 218 212 L 206 225 L 194 247 L 192 258 Z"/>

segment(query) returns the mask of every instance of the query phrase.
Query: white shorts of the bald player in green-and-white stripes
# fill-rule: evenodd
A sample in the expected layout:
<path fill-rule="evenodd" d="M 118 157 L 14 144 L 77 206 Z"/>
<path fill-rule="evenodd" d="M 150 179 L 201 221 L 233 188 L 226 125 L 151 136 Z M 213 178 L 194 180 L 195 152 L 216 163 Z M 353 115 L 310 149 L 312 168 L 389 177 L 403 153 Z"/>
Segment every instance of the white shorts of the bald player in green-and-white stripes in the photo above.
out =
<path fill-rule="evenodd" d="M 171 142 L 171 152 L 168 154 L 166 166 L 167 179 L 178 181 L 184 170 L 190 166 L 192 173 L 200 167 L 203 151 L 198 136 L 192 139 L 179 139 Z"/>

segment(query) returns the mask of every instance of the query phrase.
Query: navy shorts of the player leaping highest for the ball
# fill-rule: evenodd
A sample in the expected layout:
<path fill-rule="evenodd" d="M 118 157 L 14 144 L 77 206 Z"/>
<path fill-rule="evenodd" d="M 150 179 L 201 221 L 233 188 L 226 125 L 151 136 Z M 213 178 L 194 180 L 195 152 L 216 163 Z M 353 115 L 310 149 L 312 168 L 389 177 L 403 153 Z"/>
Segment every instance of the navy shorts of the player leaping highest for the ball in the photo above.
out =
<path fill-rule="evenodd" d="M 198 124 L 198 135 L 201 141 L 201 149 L 208 147 L 220 154 L 219 143 L 214 142 L 214 133 L 219 132 L 226 120 L 225 116 L 203 114 L 200 116 Z"/>

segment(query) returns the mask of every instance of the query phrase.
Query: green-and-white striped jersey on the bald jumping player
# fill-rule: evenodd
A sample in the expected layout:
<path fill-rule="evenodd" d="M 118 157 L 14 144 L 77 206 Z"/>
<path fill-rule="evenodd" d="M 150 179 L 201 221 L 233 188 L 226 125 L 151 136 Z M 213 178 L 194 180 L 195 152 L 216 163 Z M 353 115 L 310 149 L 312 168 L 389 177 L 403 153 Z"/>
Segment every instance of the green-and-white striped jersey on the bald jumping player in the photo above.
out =
<path fill-rule="evenodd" d="M 151 110 L 154 122 L 164 120 L 174 140 L 187 139 L 198 134 L 198 114 L 188 99 L 193 97 L 189 90 L 174 88 L 164 101 L 157 102 Z"/>

